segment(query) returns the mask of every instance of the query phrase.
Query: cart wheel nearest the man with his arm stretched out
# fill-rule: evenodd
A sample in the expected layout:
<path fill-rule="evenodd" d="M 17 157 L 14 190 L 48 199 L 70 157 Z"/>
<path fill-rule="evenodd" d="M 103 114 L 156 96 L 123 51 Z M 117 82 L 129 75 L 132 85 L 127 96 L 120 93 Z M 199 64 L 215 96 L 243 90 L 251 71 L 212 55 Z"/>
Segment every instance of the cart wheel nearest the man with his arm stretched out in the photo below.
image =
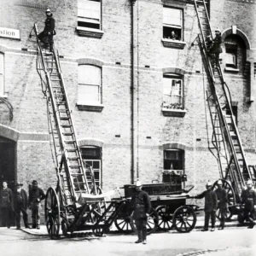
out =
<path fill-rule="evenodd" d="M 175 230 L 181 233 L 190 232 L 195 228 L 196 215 L 191 207 L 178 207 L 173 214 L 173 225 Z"/>

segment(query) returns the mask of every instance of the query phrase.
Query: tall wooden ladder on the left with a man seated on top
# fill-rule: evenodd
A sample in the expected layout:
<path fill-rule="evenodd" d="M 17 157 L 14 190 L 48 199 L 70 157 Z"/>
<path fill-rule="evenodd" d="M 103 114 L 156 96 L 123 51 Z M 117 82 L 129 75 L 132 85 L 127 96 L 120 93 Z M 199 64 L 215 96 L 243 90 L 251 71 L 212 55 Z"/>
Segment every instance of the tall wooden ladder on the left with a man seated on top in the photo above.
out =
<path fill-rule="evenodd" d="M 67 101 L 59 55 L 55 48 L 51 53 L 48 49 L 43 49 L 38 40 L 37 24 L 33 30 L 37 38 L 37 70 L 47 100 L 49 134 L 61 200 L 64 206 L 74 205 L 80 196 L 97 194 L 96 182 L 91 166 L 84 168 Z"/>

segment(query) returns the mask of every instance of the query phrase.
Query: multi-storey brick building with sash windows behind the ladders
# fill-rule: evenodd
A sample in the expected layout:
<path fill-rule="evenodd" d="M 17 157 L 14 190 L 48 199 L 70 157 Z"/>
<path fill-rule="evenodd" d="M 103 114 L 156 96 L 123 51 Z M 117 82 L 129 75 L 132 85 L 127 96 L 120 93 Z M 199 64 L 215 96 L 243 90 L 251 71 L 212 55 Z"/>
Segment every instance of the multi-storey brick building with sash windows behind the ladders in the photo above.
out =
<path fill-rule="evenodd" d="M 224 41 L 224 79 L 254 165 L 256 2 L 209 2 L 212 28 L 219 27 Z M 29 38 L 35 22 L 44 28 L 47 6 L 81 152 L 102 189 L 138 176 L 162 182 L 163 170 L 171 169 L 184 171 L 196 190 L 216 180 L 194 1 L 2 0 L 1 183 L 27 185 L 36 178 L 44 190 L 56 183 L 36 43 Z"/>

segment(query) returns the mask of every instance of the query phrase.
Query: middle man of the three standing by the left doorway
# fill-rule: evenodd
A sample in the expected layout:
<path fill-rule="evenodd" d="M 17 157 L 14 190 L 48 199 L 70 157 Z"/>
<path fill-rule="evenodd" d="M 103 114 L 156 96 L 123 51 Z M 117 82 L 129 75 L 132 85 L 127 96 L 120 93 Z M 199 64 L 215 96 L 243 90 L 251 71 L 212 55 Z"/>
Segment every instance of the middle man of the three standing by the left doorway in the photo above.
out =
<path fill-rule="evenodd" d="M 22 217 L 23 217 L 25 228 L 26 229 L 28 228 L 27 212 L 26 212 L 26 209 L 28 207 L 28 201 L 27 201 L 26 191 L 24 189 L 21 189 L 22 186 L 23 186 L 22 183 L 17 183 L 16 191 L 14 193 L 17 230 L 20 230 L 20 213 L 21 212 L 22 212 Z"/>

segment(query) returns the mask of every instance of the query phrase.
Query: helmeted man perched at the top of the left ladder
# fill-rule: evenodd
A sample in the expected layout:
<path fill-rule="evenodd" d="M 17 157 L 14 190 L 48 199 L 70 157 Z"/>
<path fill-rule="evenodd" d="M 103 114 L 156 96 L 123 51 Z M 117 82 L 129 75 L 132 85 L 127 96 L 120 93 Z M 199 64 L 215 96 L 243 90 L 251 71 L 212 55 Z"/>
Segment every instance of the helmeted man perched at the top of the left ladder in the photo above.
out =
<path fill-rule="evenodd" d="M 45 46 L 49 44 L 49 51 L 53 49 L 53 36 L 55 35 L 55 19 L 49 8 L 45 11 L 46 20 L 44 21 L 44 31 L 38 34 L 38 39 L 41 40 Z"/>

